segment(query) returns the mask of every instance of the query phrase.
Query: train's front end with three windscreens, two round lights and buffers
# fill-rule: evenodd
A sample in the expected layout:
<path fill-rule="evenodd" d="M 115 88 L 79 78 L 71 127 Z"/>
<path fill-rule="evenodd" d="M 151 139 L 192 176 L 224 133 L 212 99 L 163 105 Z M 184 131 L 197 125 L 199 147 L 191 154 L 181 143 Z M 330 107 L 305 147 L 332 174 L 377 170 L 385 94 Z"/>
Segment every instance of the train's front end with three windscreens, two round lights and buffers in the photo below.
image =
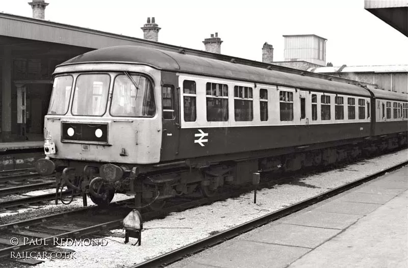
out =
<path fill-rule="evenodd" d="M 160 72 L 148 66 L 87 63 L 57 67 L 44 122 L 41 175 L 57 187 L 109 203 L 132 170 L 160 160 Z M 134 176 L 134 175 L 133 175 Z"/>

